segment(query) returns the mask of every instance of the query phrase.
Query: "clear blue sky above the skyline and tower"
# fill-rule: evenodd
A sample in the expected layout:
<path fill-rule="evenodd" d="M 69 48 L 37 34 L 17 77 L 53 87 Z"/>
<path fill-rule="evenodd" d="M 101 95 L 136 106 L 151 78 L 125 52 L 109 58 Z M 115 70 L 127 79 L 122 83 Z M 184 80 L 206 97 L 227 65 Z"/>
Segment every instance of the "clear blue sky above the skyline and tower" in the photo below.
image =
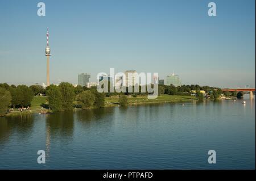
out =
<path fill-rule="evenodd" d="M 183 84 L 255 87 L 255 0 L 0 0 L 0 82 L 51 83 L 77 74 L 174 71 Z M 208 16 L 215 2 L 217 16 Z"/>

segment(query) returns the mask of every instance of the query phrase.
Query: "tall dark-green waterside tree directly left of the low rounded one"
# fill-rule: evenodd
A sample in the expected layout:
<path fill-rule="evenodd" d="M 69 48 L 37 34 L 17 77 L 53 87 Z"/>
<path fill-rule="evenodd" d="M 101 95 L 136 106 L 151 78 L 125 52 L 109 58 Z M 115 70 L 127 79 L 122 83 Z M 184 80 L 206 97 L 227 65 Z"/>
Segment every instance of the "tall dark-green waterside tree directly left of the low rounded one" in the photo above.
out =
<path fill-rule="evenodd" d="M 64 110 L 73 109 L 73 101 L 75 99 L 74 87 L 71 83 L 61 82 L 59 85 L 61 92 L 62 107 Z"/>

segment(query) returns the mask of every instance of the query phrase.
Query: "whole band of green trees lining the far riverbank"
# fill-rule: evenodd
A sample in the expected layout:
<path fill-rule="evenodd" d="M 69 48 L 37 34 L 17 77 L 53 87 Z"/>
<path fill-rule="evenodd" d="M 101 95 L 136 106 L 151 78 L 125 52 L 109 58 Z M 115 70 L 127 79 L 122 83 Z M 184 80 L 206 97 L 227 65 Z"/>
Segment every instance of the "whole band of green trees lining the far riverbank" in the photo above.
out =
<path fill-rule="evenodd" d="M 109 84 L 110 85 L 110 84 Z M 27 87 L 25 85 L 11 85 L 7 83 L 0 83 L 1 88 L 1 104 L 0 109 L 2 112 L 7 110 L 6 107 L 27 107 L 31 105 L 31 101 L 34 95 L 43 94 L 47 95 L 49 107 L 53 111 L 60 110 L 72 110 L 73 107 L 91 108 L 91 107 L 104 107 L 105 96 L 119 95 L 119 104 L 121 106 L 127 105 L 127 96 L 125 95 L 148 95 L 148 92 L 141 92 L 141 86 L 139 86 L 139 92 L 106 92 L 99 93 L 96 87 L 87 88 L 82 86 L 73 87 L 71 83 L 61 82 L 59 86 L 51 85 L 44 89 L 40 85 L 32 85 Z M 128 89 L 128 87 L 127 87 Z M 191 95 L 190 91 L 196 90 L 196 96 L 199 100 L 204 98 L 204 95 L 200 93 L 200 90 L 204 90 L 210 95 L 211 99 L 217 99 L 222 94 L 221 89 L 209 86 L 199 85 L 182 85 L 175 87 L 174 85 L 159 85 L 159 95 Z M 125 94 L 125 95 L 123 95 Z M 234 96 L 236 92 L 224 92 L 224 94 L 232 94 Z M 75 102 L 75 105 L 74 105 Z"/>

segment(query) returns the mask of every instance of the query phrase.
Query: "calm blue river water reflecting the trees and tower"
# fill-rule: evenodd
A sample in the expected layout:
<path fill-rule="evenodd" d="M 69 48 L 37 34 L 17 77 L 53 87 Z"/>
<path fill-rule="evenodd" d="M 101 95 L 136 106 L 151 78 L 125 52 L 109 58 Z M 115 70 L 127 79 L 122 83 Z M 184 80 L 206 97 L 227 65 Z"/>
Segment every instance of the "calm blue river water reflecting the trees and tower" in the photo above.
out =
<path fill-rule="evenodd" d="M 0 169 L 255 169 L 255 100 L 242 101 L 1 117 Z"/>

